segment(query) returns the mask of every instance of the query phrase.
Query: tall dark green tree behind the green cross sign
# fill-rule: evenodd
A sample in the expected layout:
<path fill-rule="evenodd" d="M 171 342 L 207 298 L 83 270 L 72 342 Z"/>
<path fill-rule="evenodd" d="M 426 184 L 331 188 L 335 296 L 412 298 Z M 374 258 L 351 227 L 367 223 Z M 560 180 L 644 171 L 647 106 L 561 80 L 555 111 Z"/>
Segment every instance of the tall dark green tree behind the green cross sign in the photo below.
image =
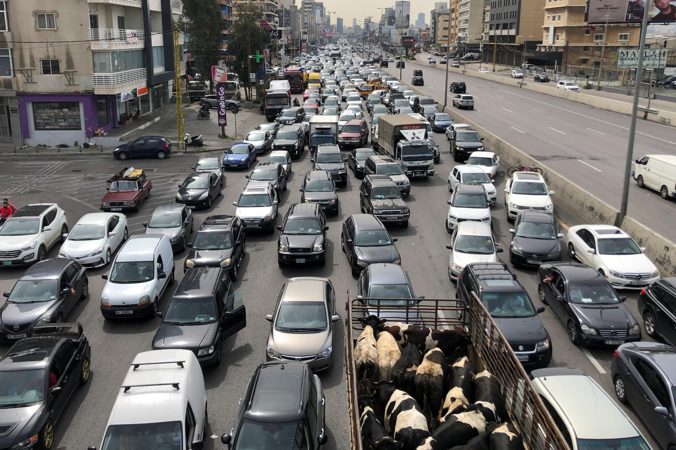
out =
<path fill-rule="evenodd" d="M 262 16 L 262 9 L 254 3 L 240 3 L 237 5 L 237 18 L 233 23 L 233 30 L 230 33 L 228 41 L 228 53 L 237 55 L 235 57 L 235 73 L 240 80 L 246 80 L 245 96 L 247 101 L 251 101 L 254 96 L 251 94 L 251 83 L 249 83 L 249 73 L 258 72 L 263 66 L 256 59 L 249 61 L 249 55 L 256 55 L 258 51 L 261 55 L 265 54 L 265 47 L 270 43 L 270 36 L 256 24 Z M 251 63 L 249 71 L 249 63 Z"/>

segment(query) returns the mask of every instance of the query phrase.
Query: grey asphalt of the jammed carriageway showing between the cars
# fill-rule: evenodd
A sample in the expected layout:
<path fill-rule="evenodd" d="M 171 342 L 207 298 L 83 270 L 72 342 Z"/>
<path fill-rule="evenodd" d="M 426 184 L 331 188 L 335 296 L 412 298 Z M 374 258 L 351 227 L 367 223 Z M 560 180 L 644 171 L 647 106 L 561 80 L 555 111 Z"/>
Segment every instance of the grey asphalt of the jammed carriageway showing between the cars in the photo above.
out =
<path fill-rule="evenodd" d="M 484 94 L 485 95 L 485 94 Z M 489 101 L 492 101 L 489 100 Z M 486 108 L 479 108 L 483 111 Z M 496 108 L 493 108 L 496 109 Z M 214 130 L 216 132 L 217 130 Z M 247 130 L 243 130 L 247 131 Z M 455 163 L 449 154 L 448 141 L 442 134 L 435 135 L 441 148 L 441 163 L 436 165 L 434 177 L 413 182 L 411 195 L 406 203 L 411 210 L 410 226 L 402 229 L 391 227 L 393 237 L 397 237 L 397 249 L 402 255 L 402 266 L 414 285 L 417 294 L 427 299 L 454 298 L 454 285 L 448 279 L 448 250 L 450 235 L 443 225 L 448 214 L 449 198 L 446 180 Z M 165 202 L 171 202 L 176 185 L 191 171 L 195 156 L 174 155 L 164 161 L 155 159 L 131 161 L 135 167 L 142 167 L 153 181 L 153 196 L 144 202 L 139 213 L 130 213 L 128 221 L 130 233 L 143 231 L 141 223 L 148 219 L 152 210 Z M 7 194 L 14 204 L 21 206 L 30 202 L 58 202 L 66 210 L 68 223 L 74 223 L 85 213 L 97 211 L 99 201 L 105 192 L 105 179 L 124 167 L 124 163 L 113 159 L 84 159 L 82 161 L 57 161 L 47 157 L 40 159 L 17 159 L 3 163 L 4 173 L 0 179 L 0 194 Z M 309 152 L 303 152 L 299 161 L 293 161 L 293 174 L 289 179 L 289 189 L 281 197 L 280 212 L 286 212 L 289 205 L 300 199 L 298 192 L 301 179 L 310 169 Z M 504 213 L 504 167 L 498 175 L 498 204 L 493 207 L 494 232 L 503 248 L 509 245 L 508 229 Z M 248 254 L 240 271 L 240 279 L 235 287 L 241 290 L 247 308 L 247 327 L 222 345 L 223 362 L 218 368 L 206 368 L 205 382 L 208 389 L 210 432 L 214 438 L 228 432 L 233 426 L 237 412 L 237 401 L 249 376 L 258 364 L 265 361 L 266 335 L 269 323 L 265 314 L 272 312 L 275 298 L 285 279 L 295 276 L 329 277 L 337 291 L 338 312 L 343 319 L 343 302 L 347 300 L 347 291 L 356 289 L 356 278 L 352 276 L 345 256 L 339 250 L 341 224 L 350 214 L 359 213 L 358 184 L 349 172 L 346 188 L 339 192 L 340 211 L 337 217 L 329 217 L 327 264 L 325 267 L 304 266 L 280 270 L 274 264 L 276 258 L 276 235 L 247 236 Z M 214 203 L 212 210 L 196 211 L 197 224 L 210 214 L 235 212 L 232 201 L 239 196 L 245 185 L 245 172 L 226 173 L 224 195 Z M 566 226 L 575 225 L 575 215 L 559 208 L 556 213 Z M 279 223 L 279 222 L 278 222 Z M 53 248 L 49 256 L 57 255 Z M 176 266 L 180 267 L 185 252 L 175 256 Z M 506 260 L 506 253 L 503 253 Z M 62 420 L 57 424 L 55 437 L 58 449 L 82 450 L 88 445 L 99 446 L 105 430 L 110 409 L 128 364 L 140 351 L 150 348 L 151 338 L 160 319 L 104 321 L 99 312 L 99 300 L 104 281 L 100 275 L 107 268 L 89 272 L 90 297 L 81 302 L 67 318 L 80 321 L 92 345 L 92 373 L 90 383 L 84 389 L 76 391 L 70 405 L 64 411 Z M 520 275 L 533 302 L 537 299 L 537 280 L 533 271 L 514 269 Z M 9 291 L 21 269 L 3 269 L 0 271 L 0 291 Z M 180 279 L 182 271 L 176 271 Z M 180 280 L 177 280 L 180 281 Z M 160 310 L 166 304 L 172 292 L 165 293 Z M 633 314 L 636 312 L 635 293 L 629 293 L 627 305 Z M 551 366 L 575 367 L 585 370 L 612 394 L 612 382 L 609 372 L 612 349 L 580 349 L 572 345 L 566 337 L 564 327 L 558 319 L 546 310 L 541 318 L 552 337 L 554 356 Z M 327 428 L 329 443 L 327 450 L 345 449 L 349 442 L 347 424 L 347 397 L 344 363 L 344 320 L 337 322 L 334 335 L 335 368 L 329 374 L 320 376 L 327 397 Z M 0 351 L 6 351 L 9 345 L 1 345 Z M 642 428 L 637 416 L 628 410 L 635 424 Z M 649 441 L 652 439 L 648 436 Z M 220 441 L 208 440 L 206 449 L 223 448 Z M 657 448 L 657 447 L 655 447 Z"/>

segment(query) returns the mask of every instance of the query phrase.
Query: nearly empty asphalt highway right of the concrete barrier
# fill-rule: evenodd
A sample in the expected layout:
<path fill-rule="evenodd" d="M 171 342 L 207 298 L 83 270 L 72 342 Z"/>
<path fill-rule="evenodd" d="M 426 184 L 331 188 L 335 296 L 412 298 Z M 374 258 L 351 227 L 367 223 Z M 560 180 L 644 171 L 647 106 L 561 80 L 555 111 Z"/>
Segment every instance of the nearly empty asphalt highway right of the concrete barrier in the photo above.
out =
<path fill-rule="evenodd" d="M 399 77 L 400 69 L 394 63 L 389 65 L 384 70 Z M 425 78 L 425 86 L 416 87 L 443 103 L 445 70 L 406 61 L 404 82 L 410 83 L 414 69 L 423 69 Z M 461 115 L 620 208 L 629 116 L 449 72 L 448 83 L 453 81 L 465 82 L 467 93 L 475 97 L 475 109 L 459 111 Z M 454 95 L 448 94 L 449 107 Z M 676 154 L 676 130 L 637 121 L 633 154 L 633 159 L 645 154 Z M 627 215 L 676 242 L 674 213 L 673 200 L 662 200 L 658 192 L 642 190 L 631 181 Z"/>

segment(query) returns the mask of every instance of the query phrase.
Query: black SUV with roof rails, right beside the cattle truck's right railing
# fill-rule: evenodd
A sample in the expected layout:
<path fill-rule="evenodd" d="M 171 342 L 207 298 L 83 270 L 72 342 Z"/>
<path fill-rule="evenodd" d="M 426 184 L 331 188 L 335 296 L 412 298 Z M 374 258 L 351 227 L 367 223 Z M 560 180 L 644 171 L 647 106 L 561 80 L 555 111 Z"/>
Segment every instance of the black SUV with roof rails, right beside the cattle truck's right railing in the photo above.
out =
<path fill-rule="evenodd" d="M 504 262 L 473 262 L 458 276 L 456 297 L 468 301 L 474 292 L 496 321 L 524 366 L 546 367 L 552 359 L 552 340 L 525 287 Z"/>

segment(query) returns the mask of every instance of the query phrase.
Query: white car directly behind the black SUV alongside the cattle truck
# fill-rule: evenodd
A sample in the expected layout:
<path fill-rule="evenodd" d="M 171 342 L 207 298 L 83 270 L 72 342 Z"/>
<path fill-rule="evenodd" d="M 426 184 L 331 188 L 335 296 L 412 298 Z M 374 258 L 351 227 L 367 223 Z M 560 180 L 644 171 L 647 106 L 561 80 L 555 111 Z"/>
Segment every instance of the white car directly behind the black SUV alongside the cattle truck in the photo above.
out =
<path fill-rule="evenodd" d="M 502 252 L 502 248 L 497 248 L 493 240 L 491 225 L 475 221 L 458 223 L 451 244 L 446 248 L 451 250 L 448 257 L 448 278 L 451 281 L 458 279 L 467 264 L 498 262 L 498 253 Z"/>

